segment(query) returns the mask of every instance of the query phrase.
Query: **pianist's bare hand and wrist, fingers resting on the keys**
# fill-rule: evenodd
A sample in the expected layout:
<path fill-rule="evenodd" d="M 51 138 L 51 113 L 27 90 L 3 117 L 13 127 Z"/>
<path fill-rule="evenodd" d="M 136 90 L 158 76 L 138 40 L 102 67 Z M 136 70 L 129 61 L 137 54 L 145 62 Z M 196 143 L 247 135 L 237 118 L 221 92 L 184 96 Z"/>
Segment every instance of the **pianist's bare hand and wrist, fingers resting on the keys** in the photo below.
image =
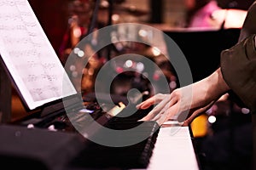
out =
<path fill-rule="evenodd" d="M 163 124 L 169 119 L 189 125 L 196 116 L 207 111 L 222 94 L 230 89 L 224 82 L 218 69 L 211 76 L 189 86 L 175 89 L 172 94 L 156 94 L 137 105 L 137 109 L 147 109 L 157 104 L 152 111 L 140 121 L 156 121 Z"/>

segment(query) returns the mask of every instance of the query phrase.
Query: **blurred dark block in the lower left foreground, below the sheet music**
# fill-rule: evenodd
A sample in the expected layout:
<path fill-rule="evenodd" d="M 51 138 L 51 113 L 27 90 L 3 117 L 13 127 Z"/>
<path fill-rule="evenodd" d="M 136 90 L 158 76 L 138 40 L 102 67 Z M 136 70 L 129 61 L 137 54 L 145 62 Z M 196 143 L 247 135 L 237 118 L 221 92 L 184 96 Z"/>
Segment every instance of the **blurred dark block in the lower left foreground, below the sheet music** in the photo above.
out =
<path fill-rule="evenodd" d="M 84 149 L 78 134 L 14 125 L 0 126 L 0 141 L 0 169 L 62 170 Z"/>

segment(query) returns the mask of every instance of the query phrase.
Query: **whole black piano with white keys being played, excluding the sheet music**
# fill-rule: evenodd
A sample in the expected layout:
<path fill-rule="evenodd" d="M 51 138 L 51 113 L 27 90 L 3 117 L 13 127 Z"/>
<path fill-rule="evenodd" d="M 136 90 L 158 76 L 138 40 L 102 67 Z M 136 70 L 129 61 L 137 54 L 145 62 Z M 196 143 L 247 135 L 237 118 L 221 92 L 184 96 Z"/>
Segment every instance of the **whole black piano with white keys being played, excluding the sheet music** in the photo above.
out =
<path fill-rule="evenodd" d="M 188 168 L 200 170 L 200 162 L 197 159 L 190 128 L 181 127 L 177 121 L 165 122 L 162 126 L 156 122 L 136 121 L 149 110 L 137 111 L 128 118 L 113 116 L 110 119 L 106 118 L 108 115 L 104 112 L 95 111 L 96 120 L 109 128 L 124 130 L 143 124 L 134 133 L 129 133 L 128 138 L 121 135 L 115 137 L 116 140 L 130 138 L 136 140 L 135 144 L 121 147 L 98 144 L 90 139 L 84 139 L 67 122 L 68 117 L 63 115 L 56 116 L 50 121 L 44 120 L 44 123 L 38 122 L 34 124 L 35 128 L 28 126 L 32 119 L 24 120 L 18 127 L 0 126 L 0 132 L 9 132 L 8 135 L 0 135 L 3 141 L 3 145 L 0 145 L 0 159 L 5 160 L 3 166 L 10 168 L 33 169 L 36 167 L 42 170 L 59 170 L 59 168 L 60 170 L 167 170 L 171 167 L 180 170 Z M 83 122 L 83 119 L 87 119 L 88 116 L 90 115 L 81 118 L 79 115 L 79 121 Z M 66 122 L 65 126 L 62 122 L 61 126 L 57 127 L 60 120 Z M 55 125 L 55 131 L 47 128 L 50 125 Z M 20 143 L 16 141 L 18 133 L 22 141 Z M 96 133 L 101 133 L 101 129 Z M 147 138 L 137 141 L 138 135 L 145 134 Z M 48 143 L 44 143 L 44 140 Z M 7 152 L 6 144 L 9 144 L 8 147 L 11 148 Z M 17 148 L 20 149 L 17 150 Z M 43 148 L 44 152 L 41 151 Z M 43 153 L 42 156 L 38 156 L 40 152 Z M 17 164 L 13 164 L 13 161 Z"/>

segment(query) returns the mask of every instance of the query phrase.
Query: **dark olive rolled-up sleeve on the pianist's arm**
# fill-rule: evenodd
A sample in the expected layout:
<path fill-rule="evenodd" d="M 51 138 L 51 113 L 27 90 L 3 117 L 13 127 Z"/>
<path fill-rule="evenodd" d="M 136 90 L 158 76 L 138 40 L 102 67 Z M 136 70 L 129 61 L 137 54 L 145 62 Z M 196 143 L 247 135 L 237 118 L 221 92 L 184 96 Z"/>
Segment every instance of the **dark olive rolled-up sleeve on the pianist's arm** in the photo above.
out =
<path fill-rule="evenodd" d="M 221 53 L 220 66 L 225 82 L 253 111 L 256 111 L 256 50 L 255 34 L 241 40 Z"/>

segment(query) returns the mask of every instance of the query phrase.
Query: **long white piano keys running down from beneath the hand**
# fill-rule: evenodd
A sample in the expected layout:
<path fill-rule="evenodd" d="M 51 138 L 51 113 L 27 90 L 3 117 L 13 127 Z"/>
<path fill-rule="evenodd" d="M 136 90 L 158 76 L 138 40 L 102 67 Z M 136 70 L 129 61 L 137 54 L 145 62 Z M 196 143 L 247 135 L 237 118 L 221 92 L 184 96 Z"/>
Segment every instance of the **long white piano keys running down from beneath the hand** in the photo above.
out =
<path fill-rule="evenodd" d="M 199 170 L 189 127 L 160 127 L 147 170 Z"/>

